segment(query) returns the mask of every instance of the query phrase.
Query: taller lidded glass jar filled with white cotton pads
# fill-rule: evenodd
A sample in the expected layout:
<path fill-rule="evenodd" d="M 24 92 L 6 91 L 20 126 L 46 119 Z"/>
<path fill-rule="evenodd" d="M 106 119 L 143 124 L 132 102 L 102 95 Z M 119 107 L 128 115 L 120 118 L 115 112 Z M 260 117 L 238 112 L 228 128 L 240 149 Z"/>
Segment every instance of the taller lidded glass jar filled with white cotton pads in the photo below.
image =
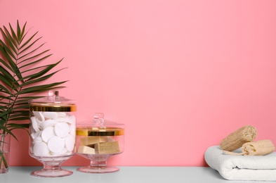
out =
<path fill-rule="evenodd" d="M 49 91 L 48 96 L 29 101 L 29 155 L 44 168 L 31 173 L 36 177 L 63 177 L 72 171 L 60 165 L 75 152 L 77 106 L 74 101 Z"/>

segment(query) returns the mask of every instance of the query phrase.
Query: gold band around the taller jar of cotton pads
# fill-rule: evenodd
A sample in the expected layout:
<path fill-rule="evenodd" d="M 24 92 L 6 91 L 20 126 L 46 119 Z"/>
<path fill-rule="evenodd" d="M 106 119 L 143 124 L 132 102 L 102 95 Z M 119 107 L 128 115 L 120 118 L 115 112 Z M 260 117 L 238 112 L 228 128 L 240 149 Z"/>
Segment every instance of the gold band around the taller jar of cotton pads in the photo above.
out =
<path fill-rule="evenodd" d="M 77 106 L 76 105 L 39 105 L 39 104 L 32 104 L 29 106 L 30 111 L 48 111 L 48 112 L 76 112 Z"/>

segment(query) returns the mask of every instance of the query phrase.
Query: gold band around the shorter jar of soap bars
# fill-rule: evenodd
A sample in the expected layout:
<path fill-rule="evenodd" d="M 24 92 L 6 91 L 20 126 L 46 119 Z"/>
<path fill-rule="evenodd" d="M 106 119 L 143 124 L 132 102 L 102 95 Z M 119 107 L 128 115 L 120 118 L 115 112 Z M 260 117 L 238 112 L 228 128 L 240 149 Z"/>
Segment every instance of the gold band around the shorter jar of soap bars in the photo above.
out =
<path fill-rule="evenodd" d="M 124 135 L 124 129 L 115 127 L 101 127 L 98 130 L 88 128 L 77 128 L 76 134 L 81 136 L 119 136 Z"/>

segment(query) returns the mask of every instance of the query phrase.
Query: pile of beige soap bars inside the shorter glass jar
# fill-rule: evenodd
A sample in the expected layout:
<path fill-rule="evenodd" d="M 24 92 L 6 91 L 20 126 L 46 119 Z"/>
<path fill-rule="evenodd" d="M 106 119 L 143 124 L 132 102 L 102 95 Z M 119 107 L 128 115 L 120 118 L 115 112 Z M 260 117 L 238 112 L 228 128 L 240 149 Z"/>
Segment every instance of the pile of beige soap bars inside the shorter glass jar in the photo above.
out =
<path fill-rule="evenodd" d="M 81 137 L 78 153 L 112 154 L 119 153 L 119 142 L 112 137 Z"/>

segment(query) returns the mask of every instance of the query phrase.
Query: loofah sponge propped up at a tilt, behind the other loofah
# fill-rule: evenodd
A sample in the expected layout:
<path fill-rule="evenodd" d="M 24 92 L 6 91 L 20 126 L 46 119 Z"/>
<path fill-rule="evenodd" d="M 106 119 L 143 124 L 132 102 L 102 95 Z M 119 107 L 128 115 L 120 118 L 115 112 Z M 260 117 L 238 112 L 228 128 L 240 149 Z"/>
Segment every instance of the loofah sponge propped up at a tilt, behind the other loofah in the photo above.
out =
<path fill-rule="evenodd" d="M 251 125 L 246 125 L 232 132 L 221 141 L 221 149 L 225 151 L 235 151 L 242 147 L 244 143 L 254 141 L 257 136 L 257 130 Z"/>

